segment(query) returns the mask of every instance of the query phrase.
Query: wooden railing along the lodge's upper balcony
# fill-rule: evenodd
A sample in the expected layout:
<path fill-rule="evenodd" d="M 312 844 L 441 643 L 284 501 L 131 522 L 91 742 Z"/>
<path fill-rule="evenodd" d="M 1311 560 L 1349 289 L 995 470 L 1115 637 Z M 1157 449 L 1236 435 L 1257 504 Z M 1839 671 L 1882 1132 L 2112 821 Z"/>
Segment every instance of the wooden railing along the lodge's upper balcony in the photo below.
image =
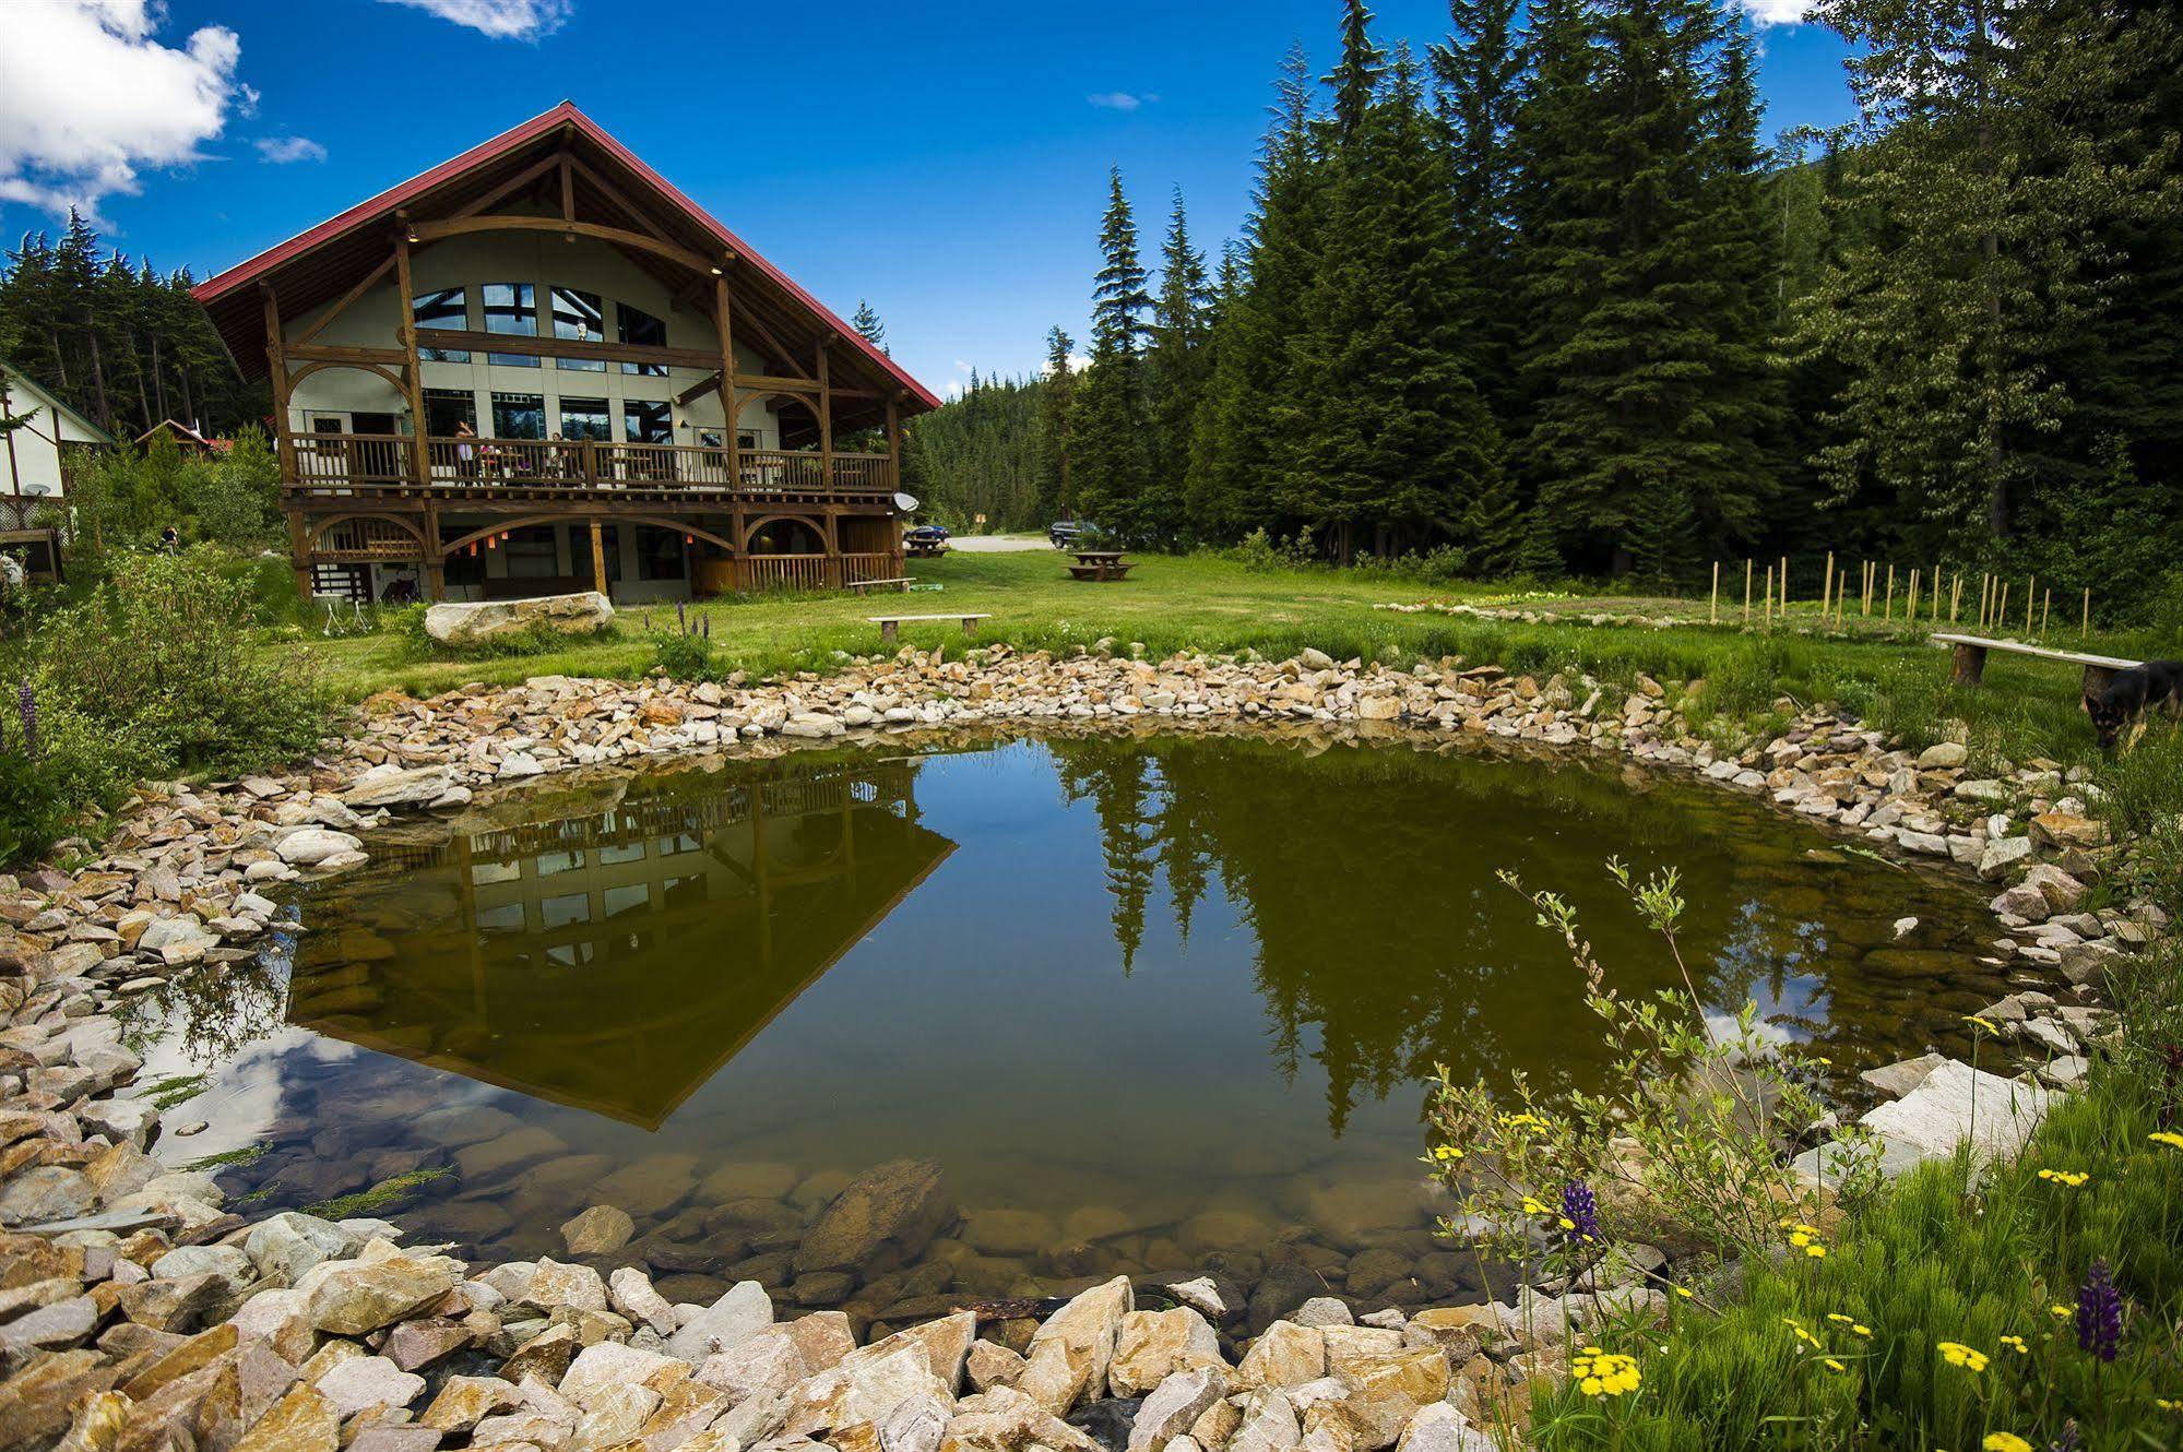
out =
<path fill-rule="evenodd" d="M 729 478 L 727 450 L 690 443 L 609 443 L 598 439 L 426 439 L 426 476 L 417 441 L 402 435 L 288 435 L 295 459 L 290 487 L 325 489 L 463 489 L 524 491 L 657 491 L 690 489 L 771 498 L 784 493 L 884 496 L 895 489 L 891 454 L 740 450 Z"/>

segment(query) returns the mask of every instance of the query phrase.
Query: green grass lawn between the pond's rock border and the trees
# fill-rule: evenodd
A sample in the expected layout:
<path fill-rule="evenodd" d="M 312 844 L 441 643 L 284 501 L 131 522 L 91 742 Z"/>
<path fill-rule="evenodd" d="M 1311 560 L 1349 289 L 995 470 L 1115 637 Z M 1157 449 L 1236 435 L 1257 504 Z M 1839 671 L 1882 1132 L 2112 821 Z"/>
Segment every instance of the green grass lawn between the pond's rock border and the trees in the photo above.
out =
<path fill-rule="evenodd" d="M 1511 596 L 1495 587 L 1432 585 L 1388 572 L 1253 570 L 1214 557 L 1146 557 L 1126 581 L 1083 583 L 1070 579 L 1063 563 L 1043 550 L 956 552 L 910 566 L 921 583 L 941 585 L 939 592 L 723 598 L 690 614 L 709 624 L 714 675 L 830 670 L 843 655 L 880 648 L 880 629 L 867 622 L 869 616 L 978 611 L 991 616 L 978 627 L 980 642 L 1024 648 L 1089 646 L 1111 638 L 1124 648 L 1144 644 L 1155 655 L 1185 648 L 1288 655 L 1319 646 L 1336 657 L 1388 664 L 1463 655 L 1511 670 L 1580 668 L 1609 681 L 1629 681 L 1646 670 L 1674 679 L 1705 677 L 1711 712 L 1755 725 L 1775 716 L 1781 699 L 1792 705 L 1836 701 L 1912 745 L 1952 734 L 1952 723 L 1960 721 L 1973 760 L 2048 755 L 2076 762 L 2089 760 L 2093 749 L 2072 666 L 1995 655 L 1984 686 L 1956 690 L 1947 683 L 1945 653 L 1923 640 L 1928 624 L 1882 624 L 1853 614 L 1845 633 L 1832 627 L 1818 633 L 1816 603 L 1799 600 L 1790 629 L 1766 633 L 1738 627 L 1740 598 L 1735 609 L 1722 607 L 1722 622 L 1714 627 L 1705 622 L 1703 598 Z M 1373 609 L 1375 603 L 1417 600 L 1515 605 L 1563 616 L 1668 616 L 1690 624 L 1591 627 Z M 648 616 L 653 629 L 675 629 L 672 607 L 651 607 Z M 906 644 L 963 646 L 952 622 L 910 624 L 902 638 Z M 349 699 L 384 688 L 430 694 L 530 675 L 637 677 L 657 659 L 642 607 L 624 609 L 603 638 L 524 655 L 434 655 L 437 648 L 399 633 L 321 640 L 306 631 L 306 640 Z M 2144 635 L 2076 640 L 2074 627 L 2056 631 L 2052 644 L 2120 655 L 2176 651 L 2172 642 Z"/>

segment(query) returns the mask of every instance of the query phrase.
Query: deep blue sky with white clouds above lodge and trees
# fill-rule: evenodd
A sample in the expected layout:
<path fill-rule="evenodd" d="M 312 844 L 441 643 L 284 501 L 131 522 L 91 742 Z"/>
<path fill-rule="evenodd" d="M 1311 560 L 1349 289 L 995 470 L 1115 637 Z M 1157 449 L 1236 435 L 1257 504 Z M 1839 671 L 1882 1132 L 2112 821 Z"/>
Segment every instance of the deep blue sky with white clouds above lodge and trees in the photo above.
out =
<path fill-rule="evenodd" d="M 1799 0 L 1744 0 L 1768 17 Z M 1214 251 L 1288 46 L 1334 0 L 947 7 L 651 0 L 9 0 L 0 234 L 90 201 L 162 269 L 220 271 L 572 98 L 928 386 L 1085 334 L 1107 168 L 1148 251 L 1181 188 Z M 1445 0 L 1382 0 L 1382 44 Z M 1840 39 L 1762 28 L 1768 133 L 1851 118 Z M 13 96 L 13 100 L 9 100 Z"/>

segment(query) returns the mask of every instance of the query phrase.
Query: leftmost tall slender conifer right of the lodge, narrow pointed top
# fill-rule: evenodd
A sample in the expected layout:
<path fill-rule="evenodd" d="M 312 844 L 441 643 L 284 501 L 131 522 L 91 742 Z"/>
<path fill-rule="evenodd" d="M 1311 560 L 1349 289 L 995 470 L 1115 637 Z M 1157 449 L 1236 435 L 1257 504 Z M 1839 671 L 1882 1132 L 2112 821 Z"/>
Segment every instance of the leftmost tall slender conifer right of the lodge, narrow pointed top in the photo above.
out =
<path fill-rule="evenodd" d="M 1122 168 L 1109 172 L 1100 255 L 1105 262 L 1092 288 L 1092 367 L 1070 410 L 1076 496 L 1096 524 L 1144 544 L 1155 528 L 1146 517 L 1150 439 L 1144 408 L 1144 312 L 1153 297 Z"/>

